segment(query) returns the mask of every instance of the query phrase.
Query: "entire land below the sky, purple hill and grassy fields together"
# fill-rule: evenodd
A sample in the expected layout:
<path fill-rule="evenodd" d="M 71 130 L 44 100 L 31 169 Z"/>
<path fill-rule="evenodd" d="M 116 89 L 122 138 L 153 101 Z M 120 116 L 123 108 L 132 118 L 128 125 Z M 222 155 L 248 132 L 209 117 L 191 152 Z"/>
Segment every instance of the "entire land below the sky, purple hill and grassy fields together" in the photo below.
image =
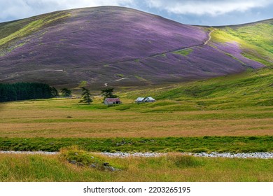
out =
<path fill-rule="evenodd" d="M 0 103 L 0 151 L 59 152 L 0 153 L 0 181 L 273 181 L 272 159 L 183 154 L 273 151 L 272 26 L 197 27 L 116 7 L 1 23 L 1 83 L 73 97 Z M 91 104 L 80 103 L 82 84 Z M 102 103 L 106 85 L 123 104 Z M 156 102 L 134 103 L 148 96 Z"/>

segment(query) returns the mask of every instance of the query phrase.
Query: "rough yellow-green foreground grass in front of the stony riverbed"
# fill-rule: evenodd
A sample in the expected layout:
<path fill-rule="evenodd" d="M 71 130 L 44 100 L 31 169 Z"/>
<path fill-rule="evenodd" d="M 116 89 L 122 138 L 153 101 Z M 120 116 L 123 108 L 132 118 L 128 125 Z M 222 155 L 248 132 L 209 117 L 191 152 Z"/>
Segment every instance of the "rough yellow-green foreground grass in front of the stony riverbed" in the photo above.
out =
<path fill-rule="evenodd" d="M 64 158 L 67 153 L 79 162 L 84 154 L 88 157 L 85 159 L 109 162 L 120 169 L 111 172 L 88 164 L 71 164 Z M 109 158 L 83 151 L 61 155 L 0 154 L 0 166 L 0 181 L 273 181 L 272 160 L 195 158 L 179 153 L 158 158 Z"/>

